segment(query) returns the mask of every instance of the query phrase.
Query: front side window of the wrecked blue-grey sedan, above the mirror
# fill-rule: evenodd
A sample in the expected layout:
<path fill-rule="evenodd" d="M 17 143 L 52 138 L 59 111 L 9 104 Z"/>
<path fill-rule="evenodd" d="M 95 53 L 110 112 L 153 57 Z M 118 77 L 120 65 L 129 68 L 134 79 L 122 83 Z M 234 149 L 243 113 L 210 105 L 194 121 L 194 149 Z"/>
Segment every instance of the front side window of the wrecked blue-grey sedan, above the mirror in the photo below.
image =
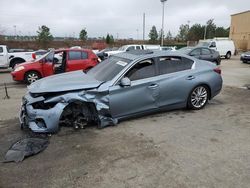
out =
<path fill-rule="evenodd" d="M 155 63 L 152 59 L 143 60 L 134 65 L 126 74 L 131 81 L 155 76 Z"/>

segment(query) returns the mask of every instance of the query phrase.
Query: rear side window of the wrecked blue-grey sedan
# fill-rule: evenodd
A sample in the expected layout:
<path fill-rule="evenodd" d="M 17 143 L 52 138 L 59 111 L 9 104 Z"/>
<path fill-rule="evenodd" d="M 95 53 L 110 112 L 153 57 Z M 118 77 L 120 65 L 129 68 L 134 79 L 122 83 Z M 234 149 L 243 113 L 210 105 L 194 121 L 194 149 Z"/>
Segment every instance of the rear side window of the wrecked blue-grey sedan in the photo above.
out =
<path fill-rule="evenodd" d="M 158 62 L 160 75 L 191 69 L 194 63 L 185 57 L 160 57 Z"/>

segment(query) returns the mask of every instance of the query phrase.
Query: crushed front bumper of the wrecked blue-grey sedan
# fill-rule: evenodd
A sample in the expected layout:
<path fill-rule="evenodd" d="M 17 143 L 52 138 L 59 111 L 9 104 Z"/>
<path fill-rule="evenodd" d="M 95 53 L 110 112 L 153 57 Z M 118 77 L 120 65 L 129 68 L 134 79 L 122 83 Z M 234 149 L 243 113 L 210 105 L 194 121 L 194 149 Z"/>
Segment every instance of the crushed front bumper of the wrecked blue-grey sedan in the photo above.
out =
<path fill-rule="evenodd" d="M 66 104 L 57 103 L 50 109 L 35 109 L 32 104 L 38 100 L 26 95 L 23 98 L 19 120 L 21 128 L 29 127 L 37 133 L 54 133 L 58 131 L 59 120 Z"/>

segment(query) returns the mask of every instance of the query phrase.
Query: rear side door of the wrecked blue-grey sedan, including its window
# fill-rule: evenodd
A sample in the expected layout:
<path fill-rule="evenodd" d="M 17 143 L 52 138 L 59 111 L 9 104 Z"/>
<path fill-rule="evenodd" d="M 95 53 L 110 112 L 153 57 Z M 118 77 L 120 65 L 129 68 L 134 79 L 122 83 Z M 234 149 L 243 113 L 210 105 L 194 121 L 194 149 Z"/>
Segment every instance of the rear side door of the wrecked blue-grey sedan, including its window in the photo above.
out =
<path fill-rule="evenodd" d="M 195 83 L 194 62 L 181 56 L 158 58 L 159 107 L 184 107 Z"/>

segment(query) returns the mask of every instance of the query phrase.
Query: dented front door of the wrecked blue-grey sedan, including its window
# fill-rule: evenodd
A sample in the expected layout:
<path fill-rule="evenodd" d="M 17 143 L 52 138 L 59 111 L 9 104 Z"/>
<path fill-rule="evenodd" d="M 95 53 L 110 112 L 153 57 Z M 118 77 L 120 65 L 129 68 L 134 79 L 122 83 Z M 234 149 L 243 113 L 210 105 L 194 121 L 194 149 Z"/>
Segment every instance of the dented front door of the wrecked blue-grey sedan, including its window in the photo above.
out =
<path fill-rule="evenodd" d="M 143 60 L 136 63 L 124 77 L 131 80 L 131 85 L 119 84 L 109 88 L 110 110 L 112 117 L 126 117 L 157 108 L 159 87 L 157 83 L 155 61 Z"/>

